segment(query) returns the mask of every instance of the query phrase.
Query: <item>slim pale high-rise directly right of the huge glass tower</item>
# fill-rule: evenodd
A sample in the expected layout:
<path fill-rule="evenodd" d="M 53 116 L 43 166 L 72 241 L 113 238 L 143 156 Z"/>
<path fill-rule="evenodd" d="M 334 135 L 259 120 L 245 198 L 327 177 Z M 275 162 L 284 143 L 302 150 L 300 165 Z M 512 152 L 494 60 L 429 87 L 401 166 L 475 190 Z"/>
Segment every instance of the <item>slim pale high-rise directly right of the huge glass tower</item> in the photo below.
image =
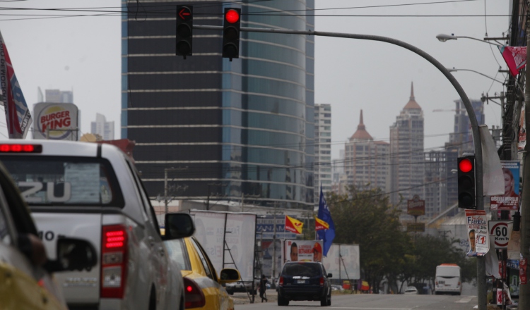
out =
<path fill-rule="evenodd" d="M 314 105 L 314 203 L 322 192 L 331 192 L 331 105 Z"/>

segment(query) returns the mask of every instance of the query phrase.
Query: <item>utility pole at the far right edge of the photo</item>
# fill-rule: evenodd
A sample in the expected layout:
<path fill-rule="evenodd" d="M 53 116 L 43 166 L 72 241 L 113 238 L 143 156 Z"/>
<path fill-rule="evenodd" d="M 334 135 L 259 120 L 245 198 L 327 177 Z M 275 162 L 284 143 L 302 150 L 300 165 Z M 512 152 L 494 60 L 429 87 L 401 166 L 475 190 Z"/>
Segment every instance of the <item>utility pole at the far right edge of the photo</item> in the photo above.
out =
<path fill-rule="evenodd" d="M 512 17 L 513 18 L 513 17 Z M 526 49 L 530 47 L 530 22 L 526 18 Z M 526 63 L 530 63 L 530 53 L 526 53 Z M 525 69 L 524 81 L 524 122 L 530 128 L 530 68 Z M 528 133 L 526 133 L 528 136 Z M 521 254 L 522 259 L 530 258 L 530 143 L 526 142 L 523 157 L 523 192 L 521 203 Z M 526 271 L 528 275 L 528 271 Z M 525 276 L 526 276 L 525 275 Z M 527 277 L 526 277 L 527 278 Z M 530 284 L 519 285 L 519 309 L 530 309 Z"/>

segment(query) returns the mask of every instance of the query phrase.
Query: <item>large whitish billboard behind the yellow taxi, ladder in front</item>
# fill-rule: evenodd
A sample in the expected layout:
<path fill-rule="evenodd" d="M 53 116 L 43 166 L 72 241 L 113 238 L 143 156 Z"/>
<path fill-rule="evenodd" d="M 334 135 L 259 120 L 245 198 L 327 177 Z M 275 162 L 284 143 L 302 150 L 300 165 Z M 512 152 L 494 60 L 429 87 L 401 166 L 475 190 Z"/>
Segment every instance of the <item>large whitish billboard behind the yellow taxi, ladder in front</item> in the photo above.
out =
<path fill-rule="evenodd" d="M 194 237 L 217 273 L 223 268 L 237 268 L 242 280 L 251 281 L 254 278 L 256 214 L 196 210 L 189 213 L 194 218 Z"/>

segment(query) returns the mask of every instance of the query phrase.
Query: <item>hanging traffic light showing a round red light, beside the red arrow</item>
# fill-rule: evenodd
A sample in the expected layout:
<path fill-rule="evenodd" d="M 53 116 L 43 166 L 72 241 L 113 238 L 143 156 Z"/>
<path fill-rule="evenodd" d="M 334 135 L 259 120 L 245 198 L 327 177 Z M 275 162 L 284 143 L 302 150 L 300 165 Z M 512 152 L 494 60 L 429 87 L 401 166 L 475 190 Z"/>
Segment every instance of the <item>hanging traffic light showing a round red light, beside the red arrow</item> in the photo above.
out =
<path fill-rule="evenodd" d="M 241 8 L 225 8 L 223 58 L 240 58 Z"/>

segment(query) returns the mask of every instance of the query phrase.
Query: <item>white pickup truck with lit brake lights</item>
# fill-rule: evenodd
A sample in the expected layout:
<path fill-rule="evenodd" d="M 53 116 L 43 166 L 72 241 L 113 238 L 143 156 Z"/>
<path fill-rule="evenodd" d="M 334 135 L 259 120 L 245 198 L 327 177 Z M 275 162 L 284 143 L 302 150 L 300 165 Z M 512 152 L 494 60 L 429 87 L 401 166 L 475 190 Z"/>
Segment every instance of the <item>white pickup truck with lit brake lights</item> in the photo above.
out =
<path fill-rule="evenodd" d="M 163 238 L 192 235 L 192 219 L 166 215 L 161 237 L 136 168 L 122 151 L 109 144 L 6 140 L 0 161 L 28 202 L 51 259 L 62 235 L 95 245 L 96 266 L 57 275 L 70 309 L 184 310 L 180 268 Z"/>

